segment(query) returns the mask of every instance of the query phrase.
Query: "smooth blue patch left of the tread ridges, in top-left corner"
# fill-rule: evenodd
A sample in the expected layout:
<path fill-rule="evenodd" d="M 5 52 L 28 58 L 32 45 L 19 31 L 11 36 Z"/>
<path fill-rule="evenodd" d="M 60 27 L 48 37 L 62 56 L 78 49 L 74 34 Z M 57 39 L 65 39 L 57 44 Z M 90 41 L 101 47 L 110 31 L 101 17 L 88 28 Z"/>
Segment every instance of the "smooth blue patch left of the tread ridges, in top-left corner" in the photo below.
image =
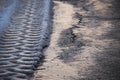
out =
<path fill-rule="evenodd" d="M 10 18 L 15 12 L 18 0 L 9 0 L 8 6 L 0 10 L 0 34 L 6 29 L 10 23 Z"/>

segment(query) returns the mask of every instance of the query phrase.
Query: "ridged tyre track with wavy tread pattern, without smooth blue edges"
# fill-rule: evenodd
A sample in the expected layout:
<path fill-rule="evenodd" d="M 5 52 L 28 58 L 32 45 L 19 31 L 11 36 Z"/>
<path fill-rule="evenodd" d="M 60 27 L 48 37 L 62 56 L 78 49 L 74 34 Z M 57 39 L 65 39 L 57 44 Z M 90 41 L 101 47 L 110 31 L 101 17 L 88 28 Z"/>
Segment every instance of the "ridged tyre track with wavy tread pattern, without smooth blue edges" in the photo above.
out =
<path fill-rule="evenodd" d="M 43 34 L 41 22 L 46 5 L 43 0 L 20 1 L 10 26 L 0 36 L 0 80 L 29 79 L 42 59 L 43 46 L 39 41 Z M 44 40 L 48 37 L 47 34 Z"/>

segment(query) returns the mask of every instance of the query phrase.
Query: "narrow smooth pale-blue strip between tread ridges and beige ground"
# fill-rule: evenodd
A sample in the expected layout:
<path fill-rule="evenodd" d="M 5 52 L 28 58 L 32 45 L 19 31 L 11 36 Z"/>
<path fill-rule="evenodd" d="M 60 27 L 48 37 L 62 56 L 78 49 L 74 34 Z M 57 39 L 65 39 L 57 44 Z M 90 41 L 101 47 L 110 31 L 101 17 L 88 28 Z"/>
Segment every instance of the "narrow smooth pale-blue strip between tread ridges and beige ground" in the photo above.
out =
<path fill-rule="evenodd" d="M 40 46 L 44 46 L 46 44 L 46 38 L 49 37 L 50 34 L 50 5 L 51 5 L 51 0 L 44 0 L 43 4 L 43 17 L 42 17 L 42 23 L 41 23 L 41 39 L 40 39 Z"/>

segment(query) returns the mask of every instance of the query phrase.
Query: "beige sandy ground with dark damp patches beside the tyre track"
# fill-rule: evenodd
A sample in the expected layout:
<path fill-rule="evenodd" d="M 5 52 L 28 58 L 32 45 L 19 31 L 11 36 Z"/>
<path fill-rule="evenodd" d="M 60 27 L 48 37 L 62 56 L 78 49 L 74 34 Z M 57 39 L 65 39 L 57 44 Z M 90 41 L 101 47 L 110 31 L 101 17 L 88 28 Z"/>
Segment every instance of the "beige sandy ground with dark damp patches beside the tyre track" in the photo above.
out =
<path fill-rule="evenodd" d="M 32 80 L 120 80 L 119 8 L 119 0 L 54 0 L 50 46 Z"/>

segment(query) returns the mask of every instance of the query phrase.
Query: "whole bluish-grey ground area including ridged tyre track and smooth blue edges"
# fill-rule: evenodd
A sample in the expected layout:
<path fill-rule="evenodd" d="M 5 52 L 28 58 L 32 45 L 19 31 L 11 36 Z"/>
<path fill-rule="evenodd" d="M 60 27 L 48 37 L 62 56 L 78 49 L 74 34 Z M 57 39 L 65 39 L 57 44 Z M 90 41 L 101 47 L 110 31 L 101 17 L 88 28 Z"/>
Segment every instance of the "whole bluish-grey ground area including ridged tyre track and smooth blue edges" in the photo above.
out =
<path fill-rule="evenodd" d="M 0 80 L 29 80 L 49 42 L 51 0 L 0 4 Z"/>

